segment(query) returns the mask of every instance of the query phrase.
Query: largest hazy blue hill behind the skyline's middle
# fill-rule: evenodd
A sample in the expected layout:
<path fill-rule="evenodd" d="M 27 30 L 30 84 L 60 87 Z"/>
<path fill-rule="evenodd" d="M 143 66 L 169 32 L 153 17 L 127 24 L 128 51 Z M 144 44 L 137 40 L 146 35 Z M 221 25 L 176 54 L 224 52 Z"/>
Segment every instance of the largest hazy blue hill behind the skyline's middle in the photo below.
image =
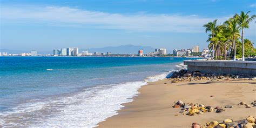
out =
<path fill-rule="evenodd" d="M 137 54 L 138 50 L 143 49 L 144 53 L 154 51 L 154 48 L 151 46 L 136 46 L 136 45 L 121 45 L 121 46 L 107 46 L 104 48 L 91 48 L 91 49 L 81 49 L 79 50 L 88 50 L 90 53 L 93 52 L 111 52 L 112 54 Z"/>

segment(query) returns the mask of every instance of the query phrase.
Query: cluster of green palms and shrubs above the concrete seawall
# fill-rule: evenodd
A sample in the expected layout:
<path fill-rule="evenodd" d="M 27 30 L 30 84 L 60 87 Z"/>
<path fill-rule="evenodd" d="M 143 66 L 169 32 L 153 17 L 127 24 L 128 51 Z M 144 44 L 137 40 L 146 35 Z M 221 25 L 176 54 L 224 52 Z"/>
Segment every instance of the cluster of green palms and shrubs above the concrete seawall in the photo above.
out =
<path fill-rule="evenodd" d="M 217 19 L 205 25 L 205 32 L 210 32 L 207 42 L 209 50 L 213 53 L 214 59 L 230 59 L 236 57 L 242 58 L 255 56 L 255 48 L 249 39 L 244 39 L 244 29 L 250 27 L 250 22 L 256 18 L 251 17 L 241 11 L 241 14 L 235 14 L 221 25 L 217 25 Z M 240 35 L 241 32 L 241 35 Z M 241 39 L 241 41 L 239 41 Z"/>

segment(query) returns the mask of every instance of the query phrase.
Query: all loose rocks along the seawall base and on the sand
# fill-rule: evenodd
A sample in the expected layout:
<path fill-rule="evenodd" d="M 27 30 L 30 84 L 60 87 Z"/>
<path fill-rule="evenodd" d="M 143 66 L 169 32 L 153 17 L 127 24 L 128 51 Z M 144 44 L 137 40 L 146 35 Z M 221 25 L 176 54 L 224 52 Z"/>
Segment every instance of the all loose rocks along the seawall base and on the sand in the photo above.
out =
<path fill-rule="evenodd" d="M 180 71 L 174 71 L 169 77 L 166 77 L 170 83 L 178 83 L 178 82 L 192 82 L 197 80 L 211 80 L 211 81 L 219 81 L 219 80 L 256 80 L 256 76 L 253 75 L 234 75 L 234 74 L 219 74 L 219 73 L 201 73 L 199 71 L 187 72 L 185 69 L 181 69 Z M 167 83 L 165 83 L 167 84 Z M 210 97 L 214 97 L 211 95 Z M 256 106 L 256 100 L 251 103 L 251 105 L 246 104 L 245 102 L 240 102 L 238 105 L 244 105 L 245 108 L 251 108 L 252 106 Z M 231 109 L 233 105 L 226 106 L 206 106 L 204 104 L 193 104 L 193 103 L 184 103 L 181 100 L 174 102 L 173 108 L 181 108 L 179 111 L 180 114 L 187 116 L 196 116 L 197 114 L 204 114 L 207 112 L 224 112 L 225 109 Z M 176 114 L 178 116 L 178 114 Z M 212 121 L 208 122 L 205 125 L 200 125 L 198 123 L 192 123 L 192 128 L 253 128 L 256 127 L 256 117 L 248 116 L 246 119 L 233 121 L 232 119 L 225 119 L 223 122 Z"/>

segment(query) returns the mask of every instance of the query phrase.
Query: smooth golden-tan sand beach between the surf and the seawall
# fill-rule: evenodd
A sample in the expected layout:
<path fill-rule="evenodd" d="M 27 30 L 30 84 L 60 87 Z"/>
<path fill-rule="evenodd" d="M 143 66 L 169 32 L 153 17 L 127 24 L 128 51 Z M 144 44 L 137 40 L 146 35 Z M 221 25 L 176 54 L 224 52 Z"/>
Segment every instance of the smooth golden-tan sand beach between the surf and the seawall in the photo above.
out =
<path fill-rule="evenodd" d="M 191 127 L 197 122 L 204 125 L 212 120 L 222 122 L 256 116 L 256 107 L 245 108 L 241 101 L 250 104 L 256 99 L 256 80 L 199 80 L 170 83 L 168 79 L 142 86 L 140 94 L 131 103 L 125 103 L 116 116 L 107 118 L 98 127 Z M 214 95 L 211 97 L 211 95 Z M 224 112 L 208 112 L 195 116 L 179 113 L 174 102 L 198 103 L 210 106 L 233 105 Z"/>

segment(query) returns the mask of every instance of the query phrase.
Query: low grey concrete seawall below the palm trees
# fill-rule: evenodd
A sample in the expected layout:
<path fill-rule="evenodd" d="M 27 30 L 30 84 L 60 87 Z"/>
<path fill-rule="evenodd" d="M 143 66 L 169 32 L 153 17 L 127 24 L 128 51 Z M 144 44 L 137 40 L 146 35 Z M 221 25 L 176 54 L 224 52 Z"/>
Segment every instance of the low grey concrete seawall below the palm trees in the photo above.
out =
<path fill-rule="evenodd" d="M 223 60 L 185 60 L 189 72 L 256 75 L 256 62 Z"/>

